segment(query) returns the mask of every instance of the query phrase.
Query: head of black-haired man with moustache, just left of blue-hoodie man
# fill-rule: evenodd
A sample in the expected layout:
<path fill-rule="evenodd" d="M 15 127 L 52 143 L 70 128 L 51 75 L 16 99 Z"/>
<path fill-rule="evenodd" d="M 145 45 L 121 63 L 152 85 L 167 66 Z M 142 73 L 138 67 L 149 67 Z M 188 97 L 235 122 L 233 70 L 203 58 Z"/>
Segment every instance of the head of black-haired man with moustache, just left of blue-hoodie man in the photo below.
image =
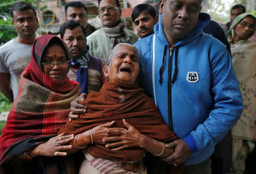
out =
<path fill-rule="evenodd" d="M 131 14 L 131 19 L 133 19 L 137 34 L 141 38 L 153 34 L 153 27 L 158 23 L 158 15 L 156 15 L 154 7 L 147 3 L 141 3 L 135 6 Z"/>

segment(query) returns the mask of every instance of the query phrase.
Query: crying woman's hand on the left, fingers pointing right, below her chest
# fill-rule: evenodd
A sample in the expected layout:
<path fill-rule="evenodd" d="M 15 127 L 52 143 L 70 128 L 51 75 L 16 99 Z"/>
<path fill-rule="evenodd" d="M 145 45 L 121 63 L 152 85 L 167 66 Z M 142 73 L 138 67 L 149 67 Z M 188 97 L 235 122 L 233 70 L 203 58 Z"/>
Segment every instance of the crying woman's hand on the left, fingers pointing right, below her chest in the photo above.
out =
<path fill-rule="evenodd" d="M 113 125 L 114 121 L 94 127 L 91 130 L 93 135 L 93 143 L 105 144 L 105 142 L 103 142 L 102 139 L 109 136 L 119 136 L 125 134 L 126 129 L 122 127 L 111 127 Z"/>

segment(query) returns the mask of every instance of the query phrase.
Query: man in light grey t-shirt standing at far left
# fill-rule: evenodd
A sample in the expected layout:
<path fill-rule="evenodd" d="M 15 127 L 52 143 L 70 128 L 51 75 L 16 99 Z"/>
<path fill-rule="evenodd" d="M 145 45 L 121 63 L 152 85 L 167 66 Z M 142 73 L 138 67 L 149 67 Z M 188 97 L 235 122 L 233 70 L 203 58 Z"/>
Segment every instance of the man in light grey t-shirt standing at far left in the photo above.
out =
<path fill-rule="evenodd" d="M 0 47 L 0 90 L 13 102 L 18 94 L 20 74 L 31 60 L 38 19 L 34 7 L 24 2 L 14 3 L 11 16 L 18 36 Z"/>

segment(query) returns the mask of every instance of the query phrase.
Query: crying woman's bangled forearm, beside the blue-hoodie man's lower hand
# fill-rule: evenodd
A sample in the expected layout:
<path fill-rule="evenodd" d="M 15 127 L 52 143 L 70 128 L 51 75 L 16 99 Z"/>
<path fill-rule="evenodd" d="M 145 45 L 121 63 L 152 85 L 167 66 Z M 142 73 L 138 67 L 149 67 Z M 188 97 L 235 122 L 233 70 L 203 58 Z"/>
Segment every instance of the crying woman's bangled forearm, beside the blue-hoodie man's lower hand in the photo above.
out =
<path fill-rule="evenodd" d="M 142 138 L 142 143 L 141 143 L 141 148 L 143 148 L 144 150 L 150 152 L 153 155 L 159 155 L 159 157 L 161 158 L 165 158 L 169 155 L 171 155 L 174 152 L 174 149 L 168 149 L 162 146 L 162 143 L 149 138 L 148 136 L 144 136 Z M 165 146 L 165 143 L 163 143 Z"/>

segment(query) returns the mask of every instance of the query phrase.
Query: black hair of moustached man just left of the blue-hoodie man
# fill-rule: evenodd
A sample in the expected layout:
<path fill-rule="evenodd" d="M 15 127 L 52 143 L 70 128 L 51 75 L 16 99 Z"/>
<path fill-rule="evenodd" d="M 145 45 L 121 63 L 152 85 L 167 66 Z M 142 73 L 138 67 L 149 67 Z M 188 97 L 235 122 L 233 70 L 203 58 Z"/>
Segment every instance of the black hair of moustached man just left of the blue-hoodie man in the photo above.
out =
<path fill-rule="evenodd" d="M 150 14 L 153 18 L 156 16 L 156 12 L 154 7 L 149 5 L 148 3 L 141 3 L 134 7 L 133 13 L 131 14 L 131 19 L 133 19 L 133 22 L 138 16 L 142 13 L 142 11 L 147 11 L 148 14 Z"/>

